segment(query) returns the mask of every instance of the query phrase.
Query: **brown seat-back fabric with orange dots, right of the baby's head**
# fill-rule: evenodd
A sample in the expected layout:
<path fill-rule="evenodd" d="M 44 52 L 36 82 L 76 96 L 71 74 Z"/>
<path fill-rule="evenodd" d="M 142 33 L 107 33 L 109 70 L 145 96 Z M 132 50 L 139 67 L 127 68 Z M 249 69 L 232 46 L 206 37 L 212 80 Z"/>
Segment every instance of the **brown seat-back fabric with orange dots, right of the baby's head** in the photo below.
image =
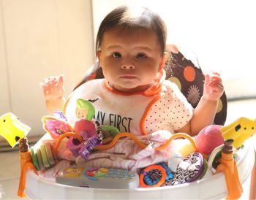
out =
<path fill-rule="evenodd" d="M 176 82 L 181 93 L 186 96 L 192 107 L 196 107 L 203 95 L 204 75 L 199 64 L 192 63 L 180 51 L 170 50 L 170 61 L 165 64 L 166 79 Z M 197 61 L 197 59 L 194 59 Z M 227 118 L 227 96 L 225 92 L 219 99 L 214 123 L 224 125 Z"/>

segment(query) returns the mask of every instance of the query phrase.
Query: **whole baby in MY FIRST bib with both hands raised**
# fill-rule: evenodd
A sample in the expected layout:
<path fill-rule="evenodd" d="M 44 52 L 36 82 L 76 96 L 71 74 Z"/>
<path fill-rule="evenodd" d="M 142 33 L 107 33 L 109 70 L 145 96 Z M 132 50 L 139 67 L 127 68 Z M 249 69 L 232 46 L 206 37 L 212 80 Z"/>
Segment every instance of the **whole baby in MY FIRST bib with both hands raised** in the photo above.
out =
<path fill-rule="evenodd" d="M 219 74 L 206 74 L 203 96 L 193 109 L 178 87 L 165 80 L 166 34 L 165 23 L 150 9 L 118 7 L 102 20 L 97 34 L 104 79 L 80 85 L 67 101 L 62 76 L 41 83 L 49 114 L 61 109 L 67 121 L 75 123 L 76 101 L 86 99 L 100 124 L 135 134 L 148 144 L 141 150 L 132 140 L 121 139 L 109 150 L 91 153 L 88 161 L 78 156 L 78 164 L 136 169 L 167 161 L 170 147 L 162 151 L 154 147 L 179 132 L 194 136 L 214 122 L 224 91 Z"/>

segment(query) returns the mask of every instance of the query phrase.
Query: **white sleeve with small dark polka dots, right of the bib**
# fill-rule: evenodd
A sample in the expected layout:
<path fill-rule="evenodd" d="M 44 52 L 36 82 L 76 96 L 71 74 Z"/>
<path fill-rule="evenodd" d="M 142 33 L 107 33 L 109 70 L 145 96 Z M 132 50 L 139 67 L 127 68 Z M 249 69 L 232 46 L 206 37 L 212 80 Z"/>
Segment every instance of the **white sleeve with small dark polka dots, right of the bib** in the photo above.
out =
<path fill-rule="evenodd" d="M 175 133 L 185 126 L 193 115 L 193 107 L 173 82 L 165 81 L 161 99 L 148 112 L 145 128 L 148 134 L 167 130 Z"/>

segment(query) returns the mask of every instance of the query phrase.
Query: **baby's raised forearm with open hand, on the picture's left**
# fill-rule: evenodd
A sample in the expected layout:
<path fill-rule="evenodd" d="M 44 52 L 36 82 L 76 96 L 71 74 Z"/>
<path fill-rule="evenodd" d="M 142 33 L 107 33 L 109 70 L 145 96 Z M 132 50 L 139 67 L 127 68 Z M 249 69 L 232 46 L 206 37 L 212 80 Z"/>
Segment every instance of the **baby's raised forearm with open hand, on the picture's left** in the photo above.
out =
<path fill-rule="evenodd" d="M 45 104 L 49 115 L 53 115 L 54 109 L 62 111 L 65 103 L 63 76 L 48 77 L 40 82 L 45 95 Z"/>

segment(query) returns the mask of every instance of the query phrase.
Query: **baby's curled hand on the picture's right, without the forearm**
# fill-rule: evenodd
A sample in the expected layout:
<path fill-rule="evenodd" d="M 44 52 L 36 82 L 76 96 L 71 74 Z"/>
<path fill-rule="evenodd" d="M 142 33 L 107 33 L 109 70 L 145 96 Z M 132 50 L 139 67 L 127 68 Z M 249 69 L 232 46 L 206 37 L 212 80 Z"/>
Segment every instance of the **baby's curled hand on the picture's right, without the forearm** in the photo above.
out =
<path fill-rule="evenodd" d="M 203 97 L 208 100 L 219 100 L 224 92 L 222 85 L 222 78 L 217 72 L 214 72 L 211 76 L 206 74 L 205 82 L 203 85 Z"/>

